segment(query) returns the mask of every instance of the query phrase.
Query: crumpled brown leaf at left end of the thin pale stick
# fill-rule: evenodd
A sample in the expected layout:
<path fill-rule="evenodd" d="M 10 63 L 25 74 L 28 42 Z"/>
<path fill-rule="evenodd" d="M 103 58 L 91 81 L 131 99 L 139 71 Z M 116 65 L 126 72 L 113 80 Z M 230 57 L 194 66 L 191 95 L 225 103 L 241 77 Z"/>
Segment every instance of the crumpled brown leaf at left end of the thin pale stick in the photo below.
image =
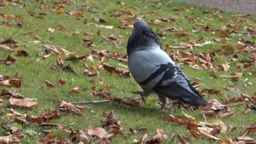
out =
<path fill-rule="evenodd" d="M 72 113 L 77 115 L 82 115 L 82 111 L 86 109 L 86 107 L 84 106 L 74 106 L 70 102 L 65 102 L 63 100 L 58 108 L 62 112 Z"/>

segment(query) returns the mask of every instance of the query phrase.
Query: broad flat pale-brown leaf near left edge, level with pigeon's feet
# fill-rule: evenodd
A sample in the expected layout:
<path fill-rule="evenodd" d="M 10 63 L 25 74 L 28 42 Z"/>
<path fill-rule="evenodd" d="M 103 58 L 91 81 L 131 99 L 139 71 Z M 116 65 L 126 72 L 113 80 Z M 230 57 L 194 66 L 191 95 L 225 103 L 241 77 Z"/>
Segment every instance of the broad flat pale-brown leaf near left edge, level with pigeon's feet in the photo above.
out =
<path fill-rule="evenodd" d="M 38 106 L 38 100 L 35 98 L 10 98 L 11 106 L 21 106 L 26 108 L 32 108 Z"/>

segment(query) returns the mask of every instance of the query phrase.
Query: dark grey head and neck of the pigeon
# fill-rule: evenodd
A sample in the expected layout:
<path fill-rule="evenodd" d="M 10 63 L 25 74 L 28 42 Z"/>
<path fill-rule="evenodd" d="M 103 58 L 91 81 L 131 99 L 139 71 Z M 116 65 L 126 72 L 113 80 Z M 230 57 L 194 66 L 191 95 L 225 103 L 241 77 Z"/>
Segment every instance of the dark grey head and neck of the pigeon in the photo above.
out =
<path fill-rule="evenodd" d="M 158 36 L 154 34 L 153 30 L 144 20 L 134 22 L 134 31 L 130 35 L 127 43 L 128 57 L 135 50 L 152 48 L 152 46 L 155 46 L 156 48 L 160 46 L 162 48 Z"/>

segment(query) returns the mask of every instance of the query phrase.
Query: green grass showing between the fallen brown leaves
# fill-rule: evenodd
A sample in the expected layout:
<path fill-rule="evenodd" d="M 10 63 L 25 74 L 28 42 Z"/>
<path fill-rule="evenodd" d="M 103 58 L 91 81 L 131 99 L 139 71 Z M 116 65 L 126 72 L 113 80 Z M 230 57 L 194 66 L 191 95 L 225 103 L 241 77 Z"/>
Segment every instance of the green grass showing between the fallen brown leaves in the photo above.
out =
<path fill-rule="evenodd" d="M 52 43 L 57 48 L 65 47 L 66 50 L 75 52 L 76 54 L 91 54 L 88 48 L 85 48 L 82 44 L 82 39 L 89 38 L 98 50 L 110 50 L 111 52 L 118 51 L 121 54 L 126 54 L 126 42 L 131 34 L 131 29 L 119 29 L 118 26 L 121 25 L 120 18 L 111 17 L 111 14 L 114 14 L 120 10 L 129 10 L 134 14 L 134 18 L 139 15 L 144 15 L 146 21 L 155 20 L 156 18 L 174 18 L 174 22 L 162 22 L 159 25 L 152 25 L 152 28 L 157 34 L 162 34 L 166 27 L 175 26 L 182 28 L 190 33 L 189 37 L 186 38 L 175 38 L 174 33 L 166 32 L 166 38 L 162 38 L 162 43 L 165 46 L 170 44 L 171 46 L 178 46 L 180 42 L 187 42 L 187 38 L 191 40 L 198 40 L 199 38 L 204 38 L 205 40 L 213 42 L 213 38 L 219 38 L 218 34 L 213 34 L 210 32 L 199 31 L 197 33 L 192 33 L 193 28 L 200 28 L 202 26 L 209 25 L 212 29 L 221 30 L 224 26 L 234 24 L 235 26 L 242 26 L 241 30 L 237 30 L 238 33 L 230 36 L 230 42 L 235 46 L 238 44 L 238 39 L 243 38 L 251 42 L 255 42 L 255 38 L 250 34 L 246 33 L 246 26 L 256 29 L 256 21 L 254 16 L 245 15 L 241 18 L 234 20 L 230 13 L 220 12 L 218 10 L 206 10 L 202 8 L 192 7 L 185 3 L 180 2 L 169 2 L 169 1 L 132 1 L 125 0 L 125 6 L 119 5 L 116 1 L 70 1 L 68 5 L 63 3 L 54 3 L 50 1 L 23 1 L 23 4 L 14 4 L 14 2 L 4 1 L 8 6 L 5 9 L 0 11 L 1 14 L 14 14 L 15 16 L 20 17 L 19 19 L 8 19 L 0 16 L 0 41 L 6 38 L 14 38 L 18 41 L 17 50 L 26 50 L 29 53 L 28 58 L 18 58 L 10 52 L 4 50 L 0 51 L 0 58 L 6 58 L 8 54 L 14 56 L 17 59 L 14 65 L 6 66 L 0 65 L 0 74 L 9 75 L 14 77 L 14 74 L 18 73 L 18 77 L 22 78 L 22 87 L 15 89 L 18 90 L 21 94 L 24 94 L 28 98 L 38 98 L 39 105 L 32 110 L 25 110 L 18 108 L 17 110 L 22 114 L 41 114 L 43 110 L 55 110 L 58 107 L 58 103 L 54 100 L 63 99 L 66 102 L 72 101 L 90 101 L 95 99 L 100 99 L 92 96 L 90 94 L 90 88 L 96 86 L 97 90 L 105 89 L 104 86 L 99 84 L 99 79 L 102 78 L 106 85 L 112 86 L 111 90 L 104 90 L 110 92 L 117 98 L 124 97 L 138 97 L 132 92 L 135 90 L 140 90 L 140 87 L 133 78 L 119 78 L 114 74 L 106 72 L 106 70 L 100 70 L 100 74 L 97 77 L 86 77 L 83 74 L 85 69 L 84 64 L 88 66 L 93 63 L 97 63 L 98 59 L 95 59 L 95 62 L 71 62 L 65 61 L 66 64 L 70 64 L 76 71 L 78 75 L 65 73 L 62 70 L 52 70 L 50 66 L 55 64 L 55 56 L 50 56 L 46 60 L 38 60 L 38 52 L 44 51 L 44 44 Z M 42 4 L 45 4 L 46 8 L 40 8 Z M 56 14 L 54 9 L 57 9 L 58 6 L 64 6 L 64 10 L 78 10 L 82 11 L 82 18 L 76 18 L 70 14 Z M 186 7 L 186 10 L 174 10 L 175 7 Z M 33 12 L 36 16 L 42 14 L 43 18 L 36 18 L 30 16 L 29 12 Z M 190 22 L 189 18 L 197 18 L 197 22 Z M 114 26 L 114 29 L 108 30 L 104 28 L 98 28 L 95 26 L 102 25 L 101 23 L 95 22 L 94 18 L 104 18 L 106 23 L 103 25 Z M 125 18 L 125 17 L 123 17 Z M 14 26 L 7 27 L 4 26 L 4 22 L 12 22 Z M 18 22 L 22 23 L 22 27 L 16 26 Z M 92 23 L 92 25 L 88 25 Z M 66 27 L 66 30 L 58 30 L 58 27 L 63 25 Z M 55 29 L 54 33 L 50 34 L 47 29 L 52 27 Z M 122 35 L 122 38 L 118 38 L 118 47 L 110 45 L 108 42 L 99 38 L 97 31 L 100 30 L 103 36 L 108 37 L 110 34 Z M 78 34 L 74 34 L 74 31 L 78 31 Z M 92 36 L 85 36 L 85 32 L 93 33 Z M 34 41 L 40 41 L 40 43 L 34 43 Z M 202 46 L 201 48 L 194 48 L 187 51 L 192 51 L 192 53 L 197 54 L 201 52 L 209 52 L 213 50 L 218 50 L 220 46 L 226 44 L 227 42 L 214 42 L 207 46 Z M 167 50 L 167 52 L 172 51 Z M 238 59 L 250 58 L 250 54 L 242 53 L 238 56 Z M 231 62 L 230 59 L 232 55 L 218 55 L 214 59 L 214 65 L 222 62 L 230 62 L 231 68 L 228 72 L 219 71 L 216 75 L 220 74 L 230 74 L 232 72 L 243 72 L 242 78 L 238 82 L 232 82 L 228 78 L 211 78 L 210 72 L 206 70 L 194 70 L 190 66 L 183 66 L 184 72 L 188 75 L 189 78 L 200 78 L 200 83 L 203 88 L 214 88 L 217 90 L 222 90 L 222 96 L 217 95 L 206 95 L 207 100 L 216 98 L 218 100 L 236 97 L 234 93 L 224 90 L 224 86 L 233 85 L 240 90 L 244 90 L 246 94 L 253 95 L 255 92 L 255 65 L 250 69 L 238 70 L 238 62 Z M 106 62 L 110 65 L 118 66 L 117 61 L 112 59 L 106 59 Z M 125 64 L 125 63 L 123 63 Z M 254 71 L 253 71 L 254 70 Z M 248 72 L 254 72 L 252 76 Z M 49 80 L 50 82 L 58 82 L 60 78 L 66 79 L 67 84 L 64 86 L 57 86 L 53 89 L 48 90 L 46 88 L 44 80 Z M 246 82 L 244 80 L 248 78 L 249 82 L 252 82 L 253 85 L 244 86 Z M 248 82 L 247 82 L 248 83 Z M 78 86 L 82 88 L 80 94 L 70 94 L 69 91 Z M 5 86 L 0 86 L 0 90 L 6 89 Z M 13 126 L 18 126 L 27 134 L 31 136 L 26 136 L 22 138 L 23 143 L 34 143 L 38 142 L 40 138 L 43 138 L 45 135 L 42 133 L 42 127 L 37 126 L 21 126 L 16 122 L 6 120 L 6 110 L 10 107 L 8 104 L 8 98 L 3 98 L 4 102 L 1 106 L 1 115 L 0 122 L 8 122 Z M 182 115 L 182 111 L 187 114 L 193 115 L 200 121 L 204 121 L 202 114 L 199 110 L 174 110 L 162 112 L 157 104 L 157 97 L 151 96 L 148 98 L 145 104 L 142 104 L 140 107 L 128 107 L 121 106 L 113 103 L 104 103 L 98 105 L 90 105 L 90 108 L 82 114 L 82 116 L 66 114 L 57 120 L 52 122 L 64 124 L 70 126 L 70 129 L 76 130 L 81 128 L 82 130 L 87 130 L 88 128 L 101 126 L 101 120 L 104 118 L 103 112 L 107 110 L 114 110 L 118 119 L 122 122 L 122 126 L 125 130 L 125 134 L 129 133 L 129 128 L 133 127 L 146 127 L 148 129 L 147 134 L 154 134 L 157 128 L 163 129 L 166 134 L 189 134 L 186 131 L 184 126 L 178 126 L 174 123 L 166 122 L 165 118 L 169 114 L 174 114 L 176 116 Z M 245 106 L 231 106 L 231 110 L 235 111 L 236 114 L 230 118 L 210 118 L 207 117 L 209 122 L 213 122 L 217 119 L 221 119 L 223 122 L 237 126 L 236 130 L 233 132 L 227 132 L 226 134 L 221 134 L 221 138 L 234 138 L 241 136 L 246 131 L 246 126 L 250 126 L 255 122 L 254 115 L 255 112 L 250 114 L 244 114 Z M 0 130 L 1 135 L 5 135 L 5 130 Z M 65 134 L 58 130 L 54 130 L 54 136 L 56 137 L 66 137 Z M 118 136 L 113 138 L 111 142 L 113 143 L 130 143 L 134 139 L 142 138 L 143 134 L 131 135 L 130 137 Z M 247 134 L 252 138 L 256 138 L 255 134 Z M 192 138 L 191 143 L 212 143 L 206 138 Z"/>

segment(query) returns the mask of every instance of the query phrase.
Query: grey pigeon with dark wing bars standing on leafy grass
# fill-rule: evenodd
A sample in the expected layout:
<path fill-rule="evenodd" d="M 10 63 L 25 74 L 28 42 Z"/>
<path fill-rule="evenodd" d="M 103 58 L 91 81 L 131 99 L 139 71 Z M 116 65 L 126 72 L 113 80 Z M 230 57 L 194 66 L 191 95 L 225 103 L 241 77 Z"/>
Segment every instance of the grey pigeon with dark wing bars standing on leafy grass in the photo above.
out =
<path fill-rule="evenodd" d="M 127 42 L 128 67 L 134 80 L 142 87 L 142 99 L 154 93 L 162 101 L 167 98 L 191 106 L 206 106 L 182 70 L 164 50 L 160 39 L 144 20 L 134 22 L 134 30 Z"/>

